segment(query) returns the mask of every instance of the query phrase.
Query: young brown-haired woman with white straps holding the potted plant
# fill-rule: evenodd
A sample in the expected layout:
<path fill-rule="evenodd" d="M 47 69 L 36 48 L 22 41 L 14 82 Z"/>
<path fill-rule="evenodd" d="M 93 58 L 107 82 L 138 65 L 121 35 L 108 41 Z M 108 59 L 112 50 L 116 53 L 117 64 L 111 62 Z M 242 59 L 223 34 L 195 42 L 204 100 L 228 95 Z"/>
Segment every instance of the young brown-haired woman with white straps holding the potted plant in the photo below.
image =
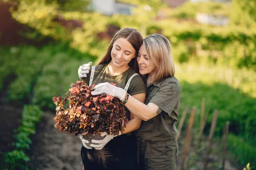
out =
<path fill-rule="evenodd" d="M 99 65 L 82 70 L 94 74 L 84 77 L 82 80 L 89 85 L 113 82 L 120 89 L 126 89 L 138 101 L 144 102 L 145 84 L 139 74 L 136 74 L 136 71 L 138 72 L 137 56 L 142 41 L 143 37 L 136 29 L 123 28 L 119 30 L 111 40 Z M 132 79 L 130 79 L 131 77 Z M 127 85 L 128 89 L 125 88 Z M 107 135 L 103 132 L 101 135 L 105 136 L 106 142 L 101 147 L 88 147 L 88 141 L 80 135 L 83 142 L 81 156 L 85 169 L 137 170 L 136 139 L 133 131 L 140 127 L 141 119 L 134 116 L 127 108 L 125 111 L 129 119 L 125 130 L 118 136 Z"/>

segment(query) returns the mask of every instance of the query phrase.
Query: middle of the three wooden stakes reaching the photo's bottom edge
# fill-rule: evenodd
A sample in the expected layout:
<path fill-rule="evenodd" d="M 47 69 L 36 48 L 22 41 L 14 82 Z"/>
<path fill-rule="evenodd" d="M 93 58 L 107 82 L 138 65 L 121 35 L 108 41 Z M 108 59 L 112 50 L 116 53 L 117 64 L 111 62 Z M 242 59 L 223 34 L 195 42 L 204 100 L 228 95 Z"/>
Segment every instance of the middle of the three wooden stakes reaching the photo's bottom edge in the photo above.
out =
<path fill-rule="evenodd" d="M 211 124 L 211 128 L 210 128 L 210 134 L 208 137 L 208 147 L 207 147 L 207 152 L 206 152 L 206 156 L 205 156 L 205 160 L 204 160 L 204 170 L 206 170 L 207 167 L 207 161 L 208 161 L 208 157 L 209 157 L 209 153 L 211 150 L 211 146 L 212 146 L 212 137 L 215 131 L 215 127 L 216 127 L 216 123 L 217 123 L 217 119 L 218 119 L 218 110 L 215 109 L 214 113 L 213 113 L 213 118 L 212 118 L 212 124 Z"/>

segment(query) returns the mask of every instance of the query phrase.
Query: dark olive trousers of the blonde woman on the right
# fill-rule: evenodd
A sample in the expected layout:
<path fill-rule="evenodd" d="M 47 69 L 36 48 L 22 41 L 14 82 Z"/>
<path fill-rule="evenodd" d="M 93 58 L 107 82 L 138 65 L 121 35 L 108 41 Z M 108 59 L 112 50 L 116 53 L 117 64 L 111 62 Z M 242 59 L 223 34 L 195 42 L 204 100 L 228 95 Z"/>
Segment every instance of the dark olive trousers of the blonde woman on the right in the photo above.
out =
<path fill-rule="evenodd" d="M 137 138 L 137 154 L 140 170 L 176 170 L 177 139 L 148 141 Z"/>

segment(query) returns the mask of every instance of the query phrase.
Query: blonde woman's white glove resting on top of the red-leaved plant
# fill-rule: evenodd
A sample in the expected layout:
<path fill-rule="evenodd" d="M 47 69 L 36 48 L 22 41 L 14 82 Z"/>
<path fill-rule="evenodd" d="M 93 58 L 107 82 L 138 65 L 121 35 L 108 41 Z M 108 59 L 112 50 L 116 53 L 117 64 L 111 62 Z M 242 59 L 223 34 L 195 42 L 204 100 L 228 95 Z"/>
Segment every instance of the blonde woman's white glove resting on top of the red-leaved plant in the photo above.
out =
<path fill-rule="evenodd" d="M 108 95 L 118 97 L 120 100 L 125 98 L 126 91 L 122 88 L 111 85 L 108 82 L 100 83 L 94 87 L 95 91 L 92 91 L 92 95 L 106 93 Z"/>

